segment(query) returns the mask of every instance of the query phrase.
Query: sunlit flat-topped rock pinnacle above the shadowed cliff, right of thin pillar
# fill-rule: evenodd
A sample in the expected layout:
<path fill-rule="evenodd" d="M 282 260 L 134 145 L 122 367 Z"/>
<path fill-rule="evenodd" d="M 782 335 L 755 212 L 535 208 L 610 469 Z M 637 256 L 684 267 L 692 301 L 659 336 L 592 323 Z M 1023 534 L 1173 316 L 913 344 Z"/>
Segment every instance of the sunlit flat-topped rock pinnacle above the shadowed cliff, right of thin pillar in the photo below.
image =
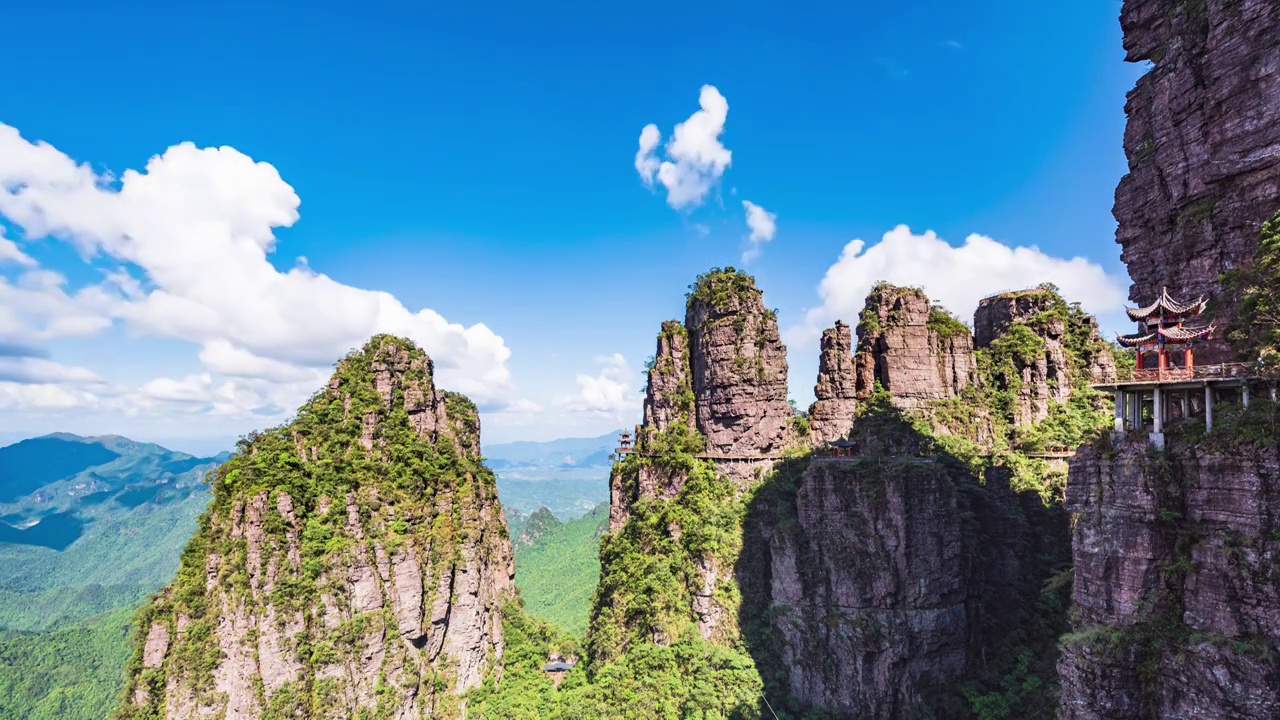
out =
<path fill-rule="evenodd" d="M 963 327 L 943 327 L 931 311 L 916 288 L 872 288 L 858 323 L 860 395 L 878 382 L 908 410 L 960 396 L 974 372 L 973 337 Z"/>

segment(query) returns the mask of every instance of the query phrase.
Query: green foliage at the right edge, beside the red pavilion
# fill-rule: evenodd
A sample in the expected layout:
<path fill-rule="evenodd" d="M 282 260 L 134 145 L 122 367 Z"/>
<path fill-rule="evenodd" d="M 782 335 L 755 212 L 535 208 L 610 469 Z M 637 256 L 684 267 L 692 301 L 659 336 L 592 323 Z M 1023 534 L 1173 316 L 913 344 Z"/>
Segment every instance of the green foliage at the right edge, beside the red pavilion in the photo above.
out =
<path fill-rule="evenodd" d="M 1253 263 L 1221 279 L 1236 304 L 1226 340 L 1260 373 L 1280 374 L 1280 213 L 1262 224 Z"/>

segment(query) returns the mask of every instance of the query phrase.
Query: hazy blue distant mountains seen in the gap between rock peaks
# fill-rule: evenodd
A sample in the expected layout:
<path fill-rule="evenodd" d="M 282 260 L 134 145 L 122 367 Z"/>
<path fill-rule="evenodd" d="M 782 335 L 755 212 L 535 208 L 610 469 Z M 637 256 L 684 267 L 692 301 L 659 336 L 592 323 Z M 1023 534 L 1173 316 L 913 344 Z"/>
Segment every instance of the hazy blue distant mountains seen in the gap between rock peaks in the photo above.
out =
<path fill-rule="evenodd" d="M 572 520 L 607 501 L 609 456 L 618 446 L 620 432 L 485 446 L 485 461 L 498 475 L 498 497 L 508 521 L 518 525 L 540 507 L 561 520 Z"/>

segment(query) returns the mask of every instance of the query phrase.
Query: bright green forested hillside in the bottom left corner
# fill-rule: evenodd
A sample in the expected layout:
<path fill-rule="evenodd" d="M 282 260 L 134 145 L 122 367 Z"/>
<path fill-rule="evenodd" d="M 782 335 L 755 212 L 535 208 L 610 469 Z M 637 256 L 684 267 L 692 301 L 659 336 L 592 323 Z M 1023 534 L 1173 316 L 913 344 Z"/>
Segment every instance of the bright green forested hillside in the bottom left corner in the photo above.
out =
<path fill-rule="evenodd" d="M 129 657 L 134 607 L 41 633 L 0 633 L 0 717 L 101 720 Z"/>

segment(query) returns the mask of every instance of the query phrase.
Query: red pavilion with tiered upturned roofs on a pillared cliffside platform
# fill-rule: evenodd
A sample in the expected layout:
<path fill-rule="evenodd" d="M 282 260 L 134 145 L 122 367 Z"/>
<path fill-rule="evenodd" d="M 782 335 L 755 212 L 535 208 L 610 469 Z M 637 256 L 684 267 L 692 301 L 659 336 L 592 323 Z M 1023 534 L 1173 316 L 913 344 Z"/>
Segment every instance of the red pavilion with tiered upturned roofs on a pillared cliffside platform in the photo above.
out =
<path fill-rule="evenodd" d="M 1204 414 L 1204 427 L 1213 427 L 1213 402 L 1221 393 L 1240 397 L 1249 405 L 1249 380 L 1256 379 L 1244 363 L 1197 365 L 1196 346 L 1213 334 L 1212 324 L 1197 324 L 1208 302 L 1199 297 L 1180 302 L 1164 288 L 1146 307 L 1125 307 L 1138 332 L 1117 336 L 1116 342 L 1135 354 L 1133 378 L 1093 386 L 1115 392 L 1116 432 L 1137 430 L 1151 419 L 1151 441 L 1165 446 L 1165 423 L 1172 415 Z M 1203 392 L 1203 402 L 1193 397 Z M 1272 388 L 1274 392 L 1274 388 Z M 1199 405 L 1199 407 L 1196 407 Z"/>

